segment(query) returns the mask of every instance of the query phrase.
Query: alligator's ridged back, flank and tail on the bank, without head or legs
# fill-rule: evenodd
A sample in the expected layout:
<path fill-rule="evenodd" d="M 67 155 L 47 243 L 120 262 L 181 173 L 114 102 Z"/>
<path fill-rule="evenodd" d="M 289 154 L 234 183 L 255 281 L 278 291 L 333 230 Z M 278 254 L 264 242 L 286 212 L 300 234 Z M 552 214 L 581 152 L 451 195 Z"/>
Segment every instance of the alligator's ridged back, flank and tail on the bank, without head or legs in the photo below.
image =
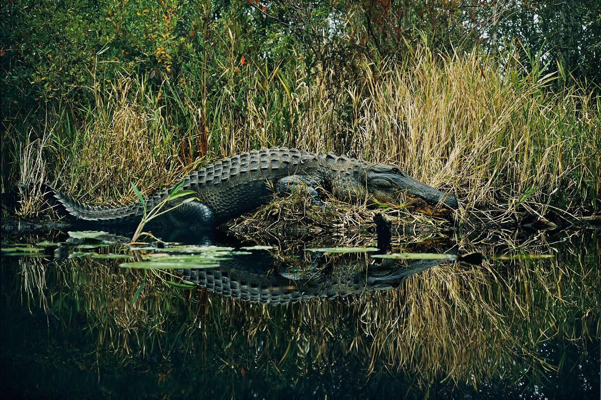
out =
<path fill-rule="evenodd" d="M 182 190 L 195 191 L 194 197 L 206 204 L 221 224 L 269 202 L 272 185 L 284 176 L 319 172 L 319 161 L 328 157 L 287 148 L 253 150 L 224 158 L 192 172 L 183 178 Z M 331 156 L 329 156 L 331 157 Z M 138 223 L 144 213 L 141 203 L 123 207 L 90 207 L 70 199 L 59 191 L 44 185 L 46 199 L 59 215 L 70 221 L 100 223 Z M 147 209 L 167 199 L 173 187 L 146 200 Z M 184 198 L 178 199 L 182 201 Z M 167 204 L 173 206 L 175 204 Z"/>

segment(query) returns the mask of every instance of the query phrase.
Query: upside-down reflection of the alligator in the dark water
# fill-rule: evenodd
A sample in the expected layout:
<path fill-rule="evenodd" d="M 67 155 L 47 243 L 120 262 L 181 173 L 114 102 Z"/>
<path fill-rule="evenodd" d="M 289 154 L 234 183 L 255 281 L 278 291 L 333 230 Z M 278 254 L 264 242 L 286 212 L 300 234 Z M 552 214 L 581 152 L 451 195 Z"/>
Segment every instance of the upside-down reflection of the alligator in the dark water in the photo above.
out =
<path fill-rule="evenodd" d="M 365 256 L 355 256 L 354 259 L 342 256 L 335 260 L 334 265 L 322 267 L 323 256 L 318 255 L 307 267 L 291 268 L 284 263 L 275 266 L 266 264 L 269 261 L 263 260 L 269 257 L 264 255 L 255 256 L 255 262 L 249 262 L 248 256 L 245 257 L 242 261 L 236 258 L 221 261 L 221 266 L 214 269 L 178 272 L 186 281 L 222 296 L 282 305 L 398 288 L 410 275 L 445 262 L 410 260 L 401 265 L 398 260 L 384 259 L 379 264 L 370 264 Z"/>

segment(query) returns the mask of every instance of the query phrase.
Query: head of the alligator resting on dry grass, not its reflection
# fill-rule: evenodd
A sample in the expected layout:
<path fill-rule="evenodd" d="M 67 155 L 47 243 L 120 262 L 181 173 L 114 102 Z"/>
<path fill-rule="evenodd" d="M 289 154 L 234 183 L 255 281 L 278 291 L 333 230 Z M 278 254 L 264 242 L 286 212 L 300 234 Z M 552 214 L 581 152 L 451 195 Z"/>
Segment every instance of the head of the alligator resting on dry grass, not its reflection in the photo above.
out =
<path fill-rule="evenodd" d="M 372 164 L 366 172 L 367 192 L 377 201 L 398 204 L 403 196 L 409 196 L 413 199 L 413 205 L 423 212 L 432 210 L 437 206 L 457 209 L 455 196 L 442 193 L 411 178 L 398 167 Z"/>

